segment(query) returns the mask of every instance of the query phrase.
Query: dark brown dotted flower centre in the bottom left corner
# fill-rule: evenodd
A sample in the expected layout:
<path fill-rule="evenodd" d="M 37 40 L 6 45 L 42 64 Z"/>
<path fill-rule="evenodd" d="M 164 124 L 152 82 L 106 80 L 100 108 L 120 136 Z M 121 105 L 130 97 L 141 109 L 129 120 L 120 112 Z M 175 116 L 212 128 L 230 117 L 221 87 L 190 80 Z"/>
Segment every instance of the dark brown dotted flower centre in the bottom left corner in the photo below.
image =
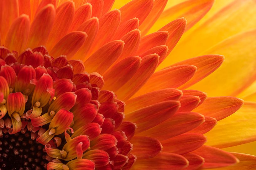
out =
<path fill-rule="evenodd" d="M 48 163 L 43 148 L 42 144 L 30 138 L 28 132 L 3 133 L 0 141 L 0 170 L 43 170 Z"/>

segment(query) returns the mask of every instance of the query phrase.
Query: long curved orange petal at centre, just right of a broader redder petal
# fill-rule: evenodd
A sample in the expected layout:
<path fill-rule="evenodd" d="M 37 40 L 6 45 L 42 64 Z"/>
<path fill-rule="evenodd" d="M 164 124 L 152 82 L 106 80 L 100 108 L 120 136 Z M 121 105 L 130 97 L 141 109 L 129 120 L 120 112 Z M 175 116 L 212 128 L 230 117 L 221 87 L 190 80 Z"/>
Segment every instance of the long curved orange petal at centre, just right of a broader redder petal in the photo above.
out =
<path fill-rule="evenodd" d="M 143 57 L 140 67 L 133 77 L 115 93 L 121 100 L 128 100 L 134 95 L 154 73 L 159 61 L 157 54 L 151 54 Z"/>

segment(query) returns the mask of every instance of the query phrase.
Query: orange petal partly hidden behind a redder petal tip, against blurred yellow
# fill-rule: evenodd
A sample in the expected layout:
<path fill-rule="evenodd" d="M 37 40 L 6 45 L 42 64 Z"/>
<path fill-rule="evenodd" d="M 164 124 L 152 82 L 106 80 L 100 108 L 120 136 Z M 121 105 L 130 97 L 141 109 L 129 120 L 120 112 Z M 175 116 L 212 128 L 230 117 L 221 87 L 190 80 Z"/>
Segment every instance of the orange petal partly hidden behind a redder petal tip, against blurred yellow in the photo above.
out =
<path fill-rule="evenodd" d="M 196 74 L 184 85 L 180 86 L 180 89 L 186 89 L 189 86 L 199 82 L 204 79 L 208 75 L 210 75 L 213 71 L 215 71 L 219 66 L 221 66 L 224 61 L 224 57 L 221 55 L 205 55 L 199 56 L 191 59 L 187 59 L 185 61 L 181 61 L 175 63 L 172 66 L 177 66 L 181 64 L 190 64 L 197 67 Z"/>

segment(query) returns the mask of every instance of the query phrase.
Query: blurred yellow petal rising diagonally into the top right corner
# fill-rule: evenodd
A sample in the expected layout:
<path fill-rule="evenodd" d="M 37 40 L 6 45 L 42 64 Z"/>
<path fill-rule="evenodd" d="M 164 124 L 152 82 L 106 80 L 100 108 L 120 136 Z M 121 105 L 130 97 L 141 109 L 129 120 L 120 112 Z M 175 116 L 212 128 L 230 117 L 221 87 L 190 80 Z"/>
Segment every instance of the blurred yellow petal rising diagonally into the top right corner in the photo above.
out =
<path fill-rule="evenodd" d="M 227 7 L 212 15 L 199 27 L 184 35 L 168 59 L 162 64 L 162 68 L 170 65 L 170 62 L 198 56 L 202 51 L 230 36 L 254 29 L 256 27 L 255 10 L 256 1 L 233 1 Z"/>

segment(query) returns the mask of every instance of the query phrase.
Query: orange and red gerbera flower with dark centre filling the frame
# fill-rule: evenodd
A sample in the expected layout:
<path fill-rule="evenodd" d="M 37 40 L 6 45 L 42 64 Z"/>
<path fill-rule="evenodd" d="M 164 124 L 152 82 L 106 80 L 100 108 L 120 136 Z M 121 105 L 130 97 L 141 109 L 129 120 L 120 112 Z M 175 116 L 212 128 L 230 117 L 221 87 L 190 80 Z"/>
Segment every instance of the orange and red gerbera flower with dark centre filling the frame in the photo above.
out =
<path fill-rule="evenodd" d="M 250 7 L 249 2 L 242 4 Z M 210 30 L 208 22 L 194 32 L 191 27 L 209 11 L 212 0 L 189 0 L 165 12 L 167 0 L 133 0 L 110 10 L 113 4 L 0 1 L 0 169 L 196 170 L 234 165 L 238 159 L 238 169 L 250 166 L 253 156 L 219 148 L 254 140 L 236 122 L 243 116 L 235 113 L 243 100 L 226 95 L 238 95 L 253 83 L 255 57 L 241 60 L 249 63 L 243 74 L 228 74 L 223 67 L 210 74 L 224 59 L 216 54 L 251 42 L 255 31 L 227 39 L 207 55 L 180 61 L 186 50 L 194 56 L 207 49 L 206 44 L 193 50 L 182 47 L 202 42 L 192 41 L 189 32 L 196 39 L 202 28 Z M 187 36 L 174 49 L 185 31 Z M 227 38 L 222 34 L 219 39 Z M 248 51 L 255 44 L 250 47 Z M 174 54 L 180 59 L 170 57 Z M 169 58 L 179 62 L 170 65 Z M 237 62 L 226 65 L 238 72 L 242 63 Z M 222 84 L 228 75 L 237 77 L 225 84 L 230 91 Z M 200 90 L 225 96 L 207 98 Z M 253 106 L 246 103 L 243 109 Z"/>

